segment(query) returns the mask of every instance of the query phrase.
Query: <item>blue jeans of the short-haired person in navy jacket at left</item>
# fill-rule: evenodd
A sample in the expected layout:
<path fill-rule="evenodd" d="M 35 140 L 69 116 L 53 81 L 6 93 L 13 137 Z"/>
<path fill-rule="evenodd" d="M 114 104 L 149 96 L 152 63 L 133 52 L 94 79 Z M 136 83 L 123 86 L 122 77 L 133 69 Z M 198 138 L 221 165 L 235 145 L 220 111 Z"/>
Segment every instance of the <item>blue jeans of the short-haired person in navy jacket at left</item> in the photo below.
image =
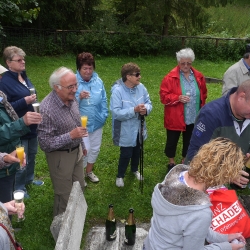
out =
<path fill-rule="evenodd" d="M 25 185 L 31 184 L 34 180 L 35 158 L 37 153 L 37 137 L 22 140 L 26 154 L 26 167 L 16 172 L 15 190 L 21 189 L 26 192 Z"/>

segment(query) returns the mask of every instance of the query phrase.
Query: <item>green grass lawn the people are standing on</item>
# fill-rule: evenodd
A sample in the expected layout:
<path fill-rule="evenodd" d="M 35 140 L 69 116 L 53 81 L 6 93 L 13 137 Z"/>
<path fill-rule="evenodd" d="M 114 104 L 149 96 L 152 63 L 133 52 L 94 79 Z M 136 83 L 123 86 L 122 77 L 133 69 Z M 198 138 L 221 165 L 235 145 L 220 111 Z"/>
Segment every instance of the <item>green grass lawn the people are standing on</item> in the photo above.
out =
<path fill-rule="evenodd" d="M 197 56 L 198 57 L 198 56 Z M 53 70 L 66 66 L 75 71 L 75 56 L 60 57 L 27 56 L 26 69 L 29 78 L 36 87 L 38 100 L 41 101 L 50 91 L 48 78 Z M 104 81 L 108 101 L 110 88 L 115 80 L 120 78 L 120 69 L 124 63 L 135 62 L 141 67 L 141 82 L 146 86 L 153 103 L 152 113 L 146 117 L 148 139 L 144 143 L 144 190 L 141 194 L 139 183 L 127 170 L 124 179 L 125 187 L 117 188 L 115 179 L 119 147 L 115 147 L 111 137 L 111 116 L 104 126 L 103 143 L 95 173 L 100 178 L 98 184 L 88 181 L 85 198 L 88 204 L 84 236 L 93 225 L 104 225 L 108 204 L 114 204 L 114 211 L 118 220 L 127 218 L 128 209 L 133 207 L 137 222 L 149 222 L 152 216 L 151 194 L 154 186 L 161 182 L 166 174 L 167 158 L 163 153 L 166 131 L 163 127 L 163 105 L 159 101 L 159 85 L 162 78 L 176 66 L 175 58 L 139 57 L 139 58 L 103 58 L 96 57 L 96 72 Z M 233 62 L 194 62 L 194 67 L 205 76 L 222 78 L 226 69 Z M 208 85 L 208 102 L 220 97 L 221 84 Z M 181 146 L 179 143 L 176 162 L 181 161 Z M 25 201 L 26 220 L 21 224 L 22 230 L 16 234 L 25 249 L 48 250 L 54 249 L 55 242 L 50 233 L 53 210 L 53 189 L 49 177 L 44 153 L 39 149 L 36 157 L 36 178 L 44 180 L 42 187 L 29 187 L 31 198 Z M 16 226 L 16 225 L 14 225 Z"/>

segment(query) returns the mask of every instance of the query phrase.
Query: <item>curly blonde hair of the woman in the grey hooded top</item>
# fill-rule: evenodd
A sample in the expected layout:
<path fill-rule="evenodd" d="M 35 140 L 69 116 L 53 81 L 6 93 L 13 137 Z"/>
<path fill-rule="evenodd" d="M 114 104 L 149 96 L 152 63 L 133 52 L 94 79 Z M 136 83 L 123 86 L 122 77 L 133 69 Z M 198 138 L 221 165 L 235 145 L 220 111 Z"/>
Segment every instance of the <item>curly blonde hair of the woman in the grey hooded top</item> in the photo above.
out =
<path fill-rule="evenodd" d="M 240 175 L 245 157 L 231 140 L 218 137 L 204 144 L 190 162 L 188 174 L 196 183 L 214 187 L 230 183 Z"/>

